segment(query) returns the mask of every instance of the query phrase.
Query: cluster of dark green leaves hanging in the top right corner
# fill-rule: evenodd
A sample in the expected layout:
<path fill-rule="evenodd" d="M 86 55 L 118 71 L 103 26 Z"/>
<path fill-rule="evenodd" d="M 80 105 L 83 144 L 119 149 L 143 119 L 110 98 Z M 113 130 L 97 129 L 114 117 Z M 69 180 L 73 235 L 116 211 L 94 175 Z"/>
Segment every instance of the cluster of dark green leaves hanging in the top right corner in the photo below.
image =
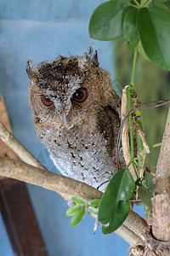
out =
<path fill-rule="evenodd" d="M 170 70 L 170 12 L 154 1 L 111 0 L 100 4 L 91 16 L 91 38 L 108 41 L 123 37 L 128 49 L 141 42 L 145 55 L 156 66 Z"/>

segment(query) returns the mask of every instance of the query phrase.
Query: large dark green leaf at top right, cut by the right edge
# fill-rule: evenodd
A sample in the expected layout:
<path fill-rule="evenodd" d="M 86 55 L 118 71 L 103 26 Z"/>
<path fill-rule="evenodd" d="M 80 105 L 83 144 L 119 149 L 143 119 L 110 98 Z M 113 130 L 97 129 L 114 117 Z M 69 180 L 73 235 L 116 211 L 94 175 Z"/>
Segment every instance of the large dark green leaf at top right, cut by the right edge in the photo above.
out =
<path fill-rule="evenodd" d="M 170 12 L 155 6 L 139 9 L 137 27 L 150 61 L 170 70 Z"/>

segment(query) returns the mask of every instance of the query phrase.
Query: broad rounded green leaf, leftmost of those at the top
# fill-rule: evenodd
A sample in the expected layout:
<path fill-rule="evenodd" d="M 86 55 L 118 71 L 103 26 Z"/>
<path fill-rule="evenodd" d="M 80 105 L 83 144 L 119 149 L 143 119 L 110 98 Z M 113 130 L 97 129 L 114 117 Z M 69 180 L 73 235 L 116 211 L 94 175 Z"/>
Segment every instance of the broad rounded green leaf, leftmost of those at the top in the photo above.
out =
<path fill-rule="evenodd" d="M 128 5 L 127 0 L 101 3 L 90 18 L 90 38 L 108 41 L 121 37 L 122 11 Z"/>

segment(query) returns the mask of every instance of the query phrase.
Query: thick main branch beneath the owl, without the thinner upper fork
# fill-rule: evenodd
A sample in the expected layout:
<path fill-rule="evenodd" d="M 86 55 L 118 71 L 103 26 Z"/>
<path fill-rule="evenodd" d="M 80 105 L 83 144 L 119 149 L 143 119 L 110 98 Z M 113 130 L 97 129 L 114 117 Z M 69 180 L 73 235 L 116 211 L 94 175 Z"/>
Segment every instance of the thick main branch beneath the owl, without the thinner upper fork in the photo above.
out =
<path fill-rule="evenodd" d="M 35 184 L 44 189 L 53 190 L 64 196 L 67 201 L 74 195 L 77 195 L 84 201 L 101 198 L 103 195 L 102 192 L 88 186 L 86 183 L 79 182 L 70 177 L 48 172 L 47 170 L 42 170 L 16 160 L 0 158 L 0 175 L 3 175 L 4 177 L 12 177 L 26 183 Z M 144 234 L 147 228 L 147 224 L 144 219 L 133 211 L 129 212 L 124 225 L 139 237 Z M 117 232 L 119 232 L 119 230 L 116 230 L 116 234 L 119 235 Z M 128 242 L 131 244 L 130 239 Z"/>

